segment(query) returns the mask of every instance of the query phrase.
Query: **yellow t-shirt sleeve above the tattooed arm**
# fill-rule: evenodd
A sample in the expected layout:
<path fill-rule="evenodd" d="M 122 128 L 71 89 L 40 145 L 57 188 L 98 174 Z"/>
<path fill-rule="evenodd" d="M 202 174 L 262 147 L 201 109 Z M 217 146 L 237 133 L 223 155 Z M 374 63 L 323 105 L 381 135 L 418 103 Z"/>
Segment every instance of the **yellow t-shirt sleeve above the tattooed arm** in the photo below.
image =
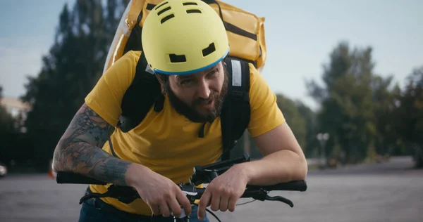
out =
<path fill-rule="evenodd" d="M 121 116 L 121 102 L 125 91 L 135 77 L 135 67 L 140 53 L 129 51 L 119 58 L 100 77 L 85 103 L 112 126 Z"/>

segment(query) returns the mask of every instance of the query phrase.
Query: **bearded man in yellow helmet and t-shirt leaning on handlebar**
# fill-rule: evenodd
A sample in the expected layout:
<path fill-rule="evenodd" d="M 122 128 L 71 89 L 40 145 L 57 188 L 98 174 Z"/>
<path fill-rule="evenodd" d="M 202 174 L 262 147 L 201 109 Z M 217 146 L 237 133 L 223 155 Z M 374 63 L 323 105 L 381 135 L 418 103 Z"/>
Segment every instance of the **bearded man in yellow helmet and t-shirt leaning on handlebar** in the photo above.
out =
<path fill-rule="evenodd" d="M 247 129 L 264 158 L 237 164 L 214 179 L 199 207 L 191 207 L 176 185 L 188 182 L 193 166 L 211 164 L 221 156 L 219 112 L 228 86 L 223 61 L 229 44 L 223 22 L 207 4 L 190 2 L 196 4 L 190 4 L 191 13 L 178 0 L 164 1 L 149 13 L 142 31 L 144 51 L 126 53 L 106 71 L 59 141 L 54 152 L 56 171 L 128 185 L 142 198 L 130 204 L 112 198 L 87 200 L 80 221 L 150 221 L 152 214 L 164 220 L 171 213 L 179 216 L 182 209 L 191 221 L 208 221 L 206 207 L 234 211 L 247 184 L 305 179 L 305 156 L 276 105 L 276 96 L 250 65 Z M 161 83 L 164 108 L 150 110 L 135 129 L 123 133 L 115 126 L 141 53 Z M 198 138 L 202 127 L 204 138 Z M 105 143 L 109 136 L 119 158 Z M 106 186 L 90 185 L 90 190 L 106 192 Z"/>

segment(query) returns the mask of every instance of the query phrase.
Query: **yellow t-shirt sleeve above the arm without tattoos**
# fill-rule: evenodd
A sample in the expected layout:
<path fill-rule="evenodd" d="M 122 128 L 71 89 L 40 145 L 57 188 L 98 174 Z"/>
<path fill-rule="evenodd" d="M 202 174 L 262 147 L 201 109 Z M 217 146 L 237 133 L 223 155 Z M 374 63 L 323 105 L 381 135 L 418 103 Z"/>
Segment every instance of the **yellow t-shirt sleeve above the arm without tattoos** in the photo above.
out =
<path fill-rule="evenodd" d="M 256 68 L 250 64 L 251 117 L 248 131 L 252 137 L 260 136 L 283 124 L 286 120 L 276 104 L 276 94 Z"/>

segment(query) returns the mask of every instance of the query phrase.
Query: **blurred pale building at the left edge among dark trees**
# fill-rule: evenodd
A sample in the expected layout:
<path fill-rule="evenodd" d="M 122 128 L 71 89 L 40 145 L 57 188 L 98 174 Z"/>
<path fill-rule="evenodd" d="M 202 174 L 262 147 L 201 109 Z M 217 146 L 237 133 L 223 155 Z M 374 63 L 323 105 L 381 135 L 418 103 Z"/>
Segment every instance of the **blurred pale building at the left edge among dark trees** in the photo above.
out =
<path fill-rule="evenodd" d="M 13 119 L 16 119 L 16 128 L 23 126 L 27 119 L 27 112 L 30 111 L 30 105 L 23 103 L 18 98 L 2 97 L 0 98 L 0 104 L 6 108 L 6 111 L 10 113 Z M 25 133 L 25 127 L 20 129 L 21 132 Z"/>

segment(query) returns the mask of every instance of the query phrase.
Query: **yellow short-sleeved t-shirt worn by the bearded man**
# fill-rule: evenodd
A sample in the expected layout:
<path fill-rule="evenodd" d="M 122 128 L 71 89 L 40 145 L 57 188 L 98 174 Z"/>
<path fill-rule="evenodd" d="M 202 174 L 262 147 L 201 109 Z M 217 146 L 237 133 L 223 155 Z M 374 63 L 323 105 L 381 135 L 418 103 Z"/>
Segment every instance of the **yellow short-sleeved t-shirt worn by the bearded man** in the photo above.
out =
<path fill-rule="evenodd" d="M 85 98 L 85 103 L 113 126 L 116 126 L 121 115 L 121 100 L 135 77 L 140 55 L 140 51 L 125 53 L 104 73 Z M 251 117 L 247 129 L 252 137 L 285 122 L 276 105 L 275 94 L 253 65 L 250 65 L 250 105 Z M 147 166 L 174 183 L 186 183 L 194 166 L 211 164 L 221 156 L 220 121 L 217 118 L 212 124 L 207 124 L 204 138 L 199 138 L 197 135 L 202 124 L 190 122 L 178 115 L 168 98 L 165 98 L 161 112 L 150 110 L 142 123 L 128 133 L 116 128 L 111 135 L 111 142 L 116 155 L 121 159 Z M 111 153 L 109 143 L 105 143 L 103 149 Z M 90 188 L 93 192 L 107 190 L 105 185 L 90 185 Z M 130 204 L 123 204 L 114 198 L 102 200 L 130 213 L 152 214 L 141 199 Z"/>

